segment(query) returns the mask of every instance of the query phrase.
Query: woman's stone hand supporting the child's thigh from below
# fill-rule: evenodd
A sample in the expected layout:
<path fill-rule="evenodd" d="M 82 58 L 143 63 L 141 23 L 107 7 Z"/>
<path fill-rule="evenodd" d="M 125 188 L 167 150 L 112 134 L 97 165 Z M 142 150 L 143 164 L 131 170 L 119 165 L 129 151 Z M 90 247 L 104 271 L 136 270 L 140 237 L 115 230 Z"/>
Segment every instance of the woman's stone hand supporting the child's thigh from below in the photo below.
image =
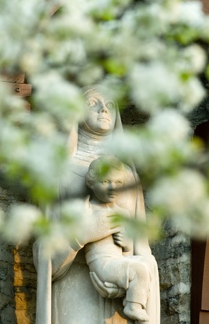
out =
<path fill-rule="evenodd" d="M 98 293 L 105 298 L 116 298 L 125 295 L 125 289 L 118 287 L 115 283 L 102 282 L 95 272 L 90 272 L 91 281 Z"/>

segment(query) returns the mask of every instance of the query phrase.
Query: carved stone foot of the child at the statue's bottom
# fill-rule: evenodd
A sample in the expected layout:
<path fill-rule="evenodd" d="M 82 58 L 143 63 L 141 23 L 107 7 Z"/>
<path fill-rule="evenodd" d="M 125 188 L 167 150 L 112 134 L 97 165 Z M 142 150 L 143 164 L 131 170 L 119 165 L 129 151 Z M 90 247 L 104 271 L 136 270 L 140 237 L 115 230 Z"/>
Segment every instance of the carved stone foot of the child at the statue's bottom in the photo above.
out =
<path fill-rule="evenodd" d="M 148 322 L 149 316 L 146 314 L 146 310 L 141 307 L 141 304 L 137 302 L 127 302 L 123 309 L 124 314 L 135 321 Z"/>

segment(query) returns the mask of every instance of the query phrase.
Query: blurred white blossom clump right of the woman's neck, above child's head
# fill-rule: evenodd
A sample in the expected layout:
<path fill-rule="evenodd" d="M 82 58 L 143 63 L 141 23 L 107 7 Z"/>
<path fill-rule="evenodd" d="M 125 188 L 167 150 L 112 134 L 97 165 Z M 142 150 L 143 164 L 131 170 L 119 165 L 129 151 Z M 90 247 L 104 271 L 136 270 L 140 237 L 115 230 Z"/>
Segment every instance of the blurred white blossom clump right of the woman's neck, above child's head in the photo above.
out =
<path fill-rule="evenodd" d="M 150 118 L 138 131 L 127 130 L 109 143 L 111 152 L 127 161 L 132 159 L 139 170 L 154 174 L 169 165 L 195 159 L 197 154 L 189 138 L 189 123 L 175 110 L 164 110 Z"/>

